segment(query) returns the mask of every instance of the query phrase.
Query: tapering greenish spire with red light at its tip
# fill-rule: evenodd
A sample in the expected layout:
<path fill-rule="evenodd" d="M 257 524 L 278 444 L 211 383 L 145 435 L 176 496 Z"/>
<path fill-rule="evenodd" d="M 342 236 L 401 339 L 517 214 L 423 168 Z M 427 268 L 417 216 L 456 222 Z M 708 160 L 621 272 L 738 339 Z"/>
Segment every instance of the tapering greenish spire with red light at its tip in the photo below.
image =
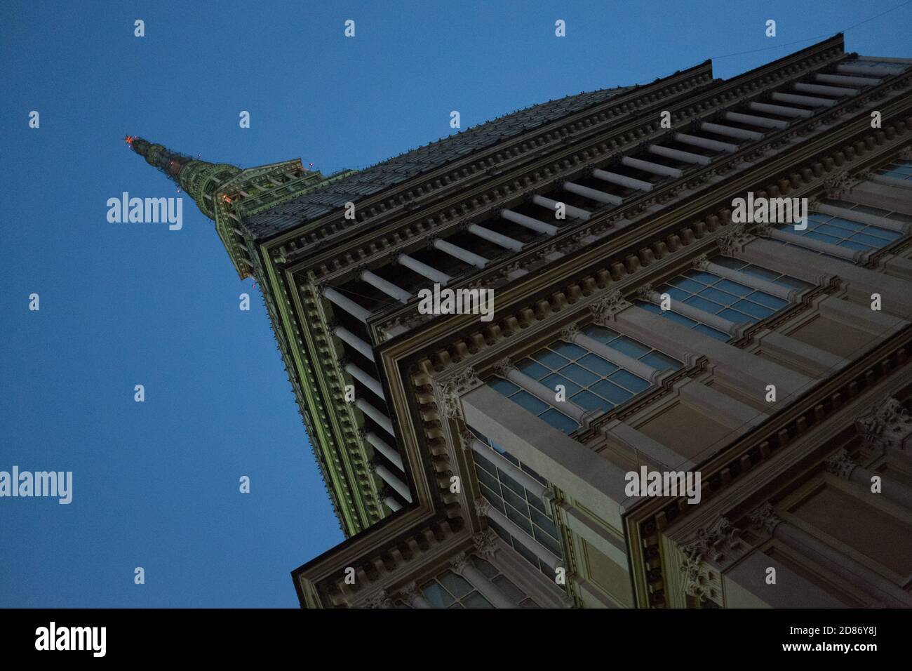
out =
<path fill-rule="evenodd" d="M 241 172 L 230 163 L 207 163 L 187 154 L 172 152 L 161 144 L 153 144 L 135 135 L 124 139 L 130 149 L 146 159 L 146 163 L 161 170 L 196 201 L 203 215 L 215 219 L 214 198 L 218 187 Z"/>

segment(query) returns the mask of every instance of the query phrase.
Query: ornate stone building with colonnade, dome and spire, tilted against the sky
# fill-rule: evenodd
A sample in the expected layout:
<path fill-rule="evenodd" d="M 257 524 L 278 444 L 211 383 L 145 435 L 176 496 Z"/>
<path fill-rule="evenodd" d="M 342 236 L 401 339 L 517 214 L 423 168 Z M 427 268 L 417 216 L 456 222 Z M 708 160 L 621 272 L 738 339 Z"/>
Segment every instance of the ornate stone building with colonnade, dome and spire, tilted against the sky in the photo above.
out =
<path fill-rule="evenodd" d="M 331 176 L 128 142 L 263 288 L 347 534 L 303 606 L 912 605 L 912 59 L 707 61 Z"/>

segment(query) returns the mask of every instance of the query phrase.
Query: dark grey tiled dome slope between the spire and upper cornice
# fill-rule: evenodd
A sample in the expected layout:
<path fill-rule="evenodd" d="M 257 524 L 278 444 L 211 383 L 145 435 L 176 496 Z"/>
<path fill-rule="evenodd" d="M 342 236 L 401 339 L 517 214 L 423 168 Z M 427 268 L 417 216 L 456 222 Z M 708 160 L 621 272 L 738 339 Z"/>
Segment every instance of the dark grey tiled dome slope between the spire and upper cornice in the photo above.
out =
<path fill-rule="evenodd" d="M 410 152 L 377 163 L 359 173 L 347 176 L 315 192 L 301 195 L 277 205 L 260 215 L 250 217 L 246 227 L 257 239 L 282 233 L 319 216 L 341 208 L 348 202 L 376 194 L 389 186 L 404 182 L 420 173 L 440 168 L 461 159 L 465 154 L 502 142 L 525 131 L 556 121 L 579 110 L 597 105 L 626 93 L 633 87 L 599 89 L 578 93 L 560 100 L 543 102 L 518 110 L 455 135 L 431 142 Z"/>

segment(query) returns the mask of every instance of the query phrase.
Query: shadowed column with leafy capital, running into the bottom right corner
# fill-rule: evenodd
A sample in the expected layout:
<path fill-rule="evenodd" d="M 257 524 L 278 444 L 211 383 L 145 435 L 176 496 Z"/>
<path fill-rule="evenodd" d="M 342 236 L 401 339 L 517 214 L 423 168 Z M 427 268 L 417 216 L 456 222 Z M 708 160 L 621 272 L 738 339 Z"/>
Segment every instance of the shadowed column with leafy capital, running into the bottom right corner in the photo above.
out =
<path fill-rule="evenodd" d="M 770 503 L 765 503 L 751 513 L 751 523 L 758 529 L 767 531 L 772 538 L 781 540 L 794 550 L 817 561 L 846 582 L 857 585 L 885 605 L 895 608 L 912 606 L 912 595 L 904 592 L 893 582 L 886 580 L 864 564 L 831 548 L 807 531 L 783 521 Z"/>

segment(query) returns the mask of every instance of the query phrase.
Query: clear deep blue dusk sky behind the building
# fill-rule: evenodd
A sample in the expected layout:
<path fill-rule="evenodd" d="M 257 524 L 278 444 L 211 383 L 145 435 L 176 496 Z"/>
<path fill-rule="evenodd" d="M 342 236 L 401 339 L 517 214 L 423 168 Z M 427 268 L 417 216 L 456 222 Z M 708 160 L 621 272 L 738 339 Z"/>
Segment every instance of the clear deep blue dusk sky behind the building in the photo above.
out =
<path fill-rule="evenodd" d="M 125 134 L 359 168 L 450 134 L 451 110 L 466 128 L 750 52 L 715 61 L 728 78 L 901 2 L 4 3 L 0 470 L 74 483 L 68 506 L 0 498 L 0 606 L 296 606 L 289 571 L 342 540 L 262 300 L 211 222 L 187 198 L 180 231 L 107 221 L 124 191 L 178 195 Z M 912 4 L 846 48 L 912 57 L 909 35 Z"/>

